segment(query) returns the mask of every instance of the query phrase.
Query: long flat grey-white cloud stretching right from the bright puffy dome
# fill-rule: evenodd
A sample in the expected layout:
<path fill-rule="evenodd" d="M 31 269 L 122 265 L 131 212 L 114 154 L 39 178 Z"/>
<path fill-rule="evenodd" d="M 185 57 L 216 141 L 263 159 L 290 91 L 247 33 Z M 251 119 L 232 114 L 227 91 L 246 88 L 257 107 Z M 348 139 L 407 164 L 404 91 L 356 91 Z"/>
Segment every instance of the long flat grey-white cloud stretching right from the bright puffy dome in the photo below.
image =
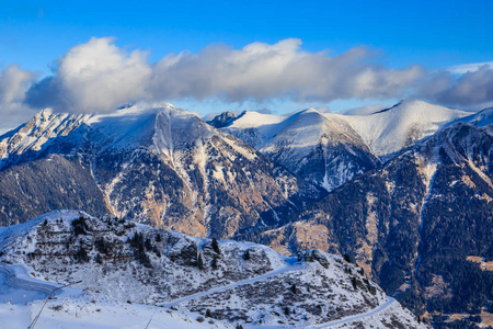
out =
<path fill-rule="evenodd" d="M 400 93 L 424 75 L 413 66 L 387 69 L 370 64 L 374 55 L 354 48 L 341 56 L 309 53 L 301 41 L 274 45 L 253 43 L 242 49 L 225 45 L 198 54 L 169 55 L 156 64 L 152 94 L 170 99 L 220 97 L 227 101 L 332 101 L 347 98 L 387 98 Z"/>

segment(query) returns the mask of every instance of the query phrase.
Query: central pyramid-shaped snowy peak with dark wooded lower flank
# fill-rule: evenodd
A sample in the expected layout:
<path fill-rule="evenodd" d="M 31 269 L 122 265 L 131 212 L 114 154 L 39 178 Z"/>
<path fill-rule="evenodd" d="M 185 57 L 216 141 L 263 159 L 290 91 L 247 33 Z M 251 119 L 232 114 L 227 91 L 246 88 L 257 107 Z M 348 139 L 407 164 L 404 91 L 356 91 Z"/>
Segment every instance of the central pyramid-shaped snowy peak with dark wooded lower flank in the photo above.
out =
<path fill-rule="evenodd" d="M 289 117 L 246 112 L 223 131 L 294 172 L 314 197 L 379 163 L 341 116 L 313 109 Z"/>

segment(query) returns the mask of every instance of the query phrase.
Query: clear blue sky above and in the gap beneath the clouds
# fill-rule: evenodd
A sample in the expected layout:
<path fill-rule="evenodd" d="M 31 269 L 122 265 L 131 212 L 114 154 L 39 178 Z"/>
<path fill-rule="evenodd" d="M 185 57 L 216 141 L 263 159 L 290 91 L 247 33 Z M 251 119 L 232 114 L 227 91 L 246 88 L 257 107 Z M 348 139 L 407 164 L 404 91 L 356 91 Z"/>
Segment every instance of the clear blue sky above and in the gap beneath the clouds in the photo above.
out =
<path fill-rule="evenodd" d="M 116 37 L 116 47 L 147 52 L 152 65 L 168 54 L 197 54 L 210 44 L 232 49 L 288 38 L 299 50 L 328 50 L 337 57 L 355 47 L 371 50 L 375 67 L 419 65 L 435 71 L 493 61 L 493 1 L 5 1 L 0 0 L 0 69 L 16 64 L 36 81 L 57 76 L 57 60 L 91 37 Z M 216 91 L 215 91 L 216 92 Z M 328 105 L 342 110 L 367 103 L 392 103 L 401 94 L 339 99 L 278 97 L 237 102 L 211 93 L 174 97 L 195 111 L 257 107 L 293 111 Z M 440 99 L 445 100 L 445 97 Z M 438 99 L 437 99 L 438 100 Z M 455 100 L 457 101 L 457 100 Z M 486 100 L 489 101 L 489 100 Z M 203 109 L 197 109 L 197 107 Z M 461 104 L 458 102 L 458 104 Z M 448 104 L 447 104 L 448 105 Z M 463 103 L 468 106 L 468 103 Z M 5 117 L 5 116 L 4 116 Z"/>

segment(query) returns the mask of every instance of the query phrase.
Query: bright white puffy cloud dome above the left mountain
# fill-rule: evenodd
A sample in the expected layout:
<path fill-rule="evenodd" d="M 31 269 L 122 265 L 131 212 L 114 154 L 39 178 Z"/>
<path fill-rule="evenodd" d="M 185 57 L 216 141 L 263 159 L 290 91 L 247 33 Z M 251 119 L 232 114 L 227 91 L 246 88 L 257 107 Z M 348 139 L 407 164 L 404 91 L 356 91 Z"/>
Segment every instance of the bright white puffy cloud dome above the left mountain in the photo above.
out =
<path fill-rule="evenodd" d="M 55 75 L 34 84 L 26 102 L 61 111 L 114 110 L 122 103 L 146 98 L 150 77 L 146 53 L 128 54 L 112 37 L 93 37 L 61 57 Z"/>

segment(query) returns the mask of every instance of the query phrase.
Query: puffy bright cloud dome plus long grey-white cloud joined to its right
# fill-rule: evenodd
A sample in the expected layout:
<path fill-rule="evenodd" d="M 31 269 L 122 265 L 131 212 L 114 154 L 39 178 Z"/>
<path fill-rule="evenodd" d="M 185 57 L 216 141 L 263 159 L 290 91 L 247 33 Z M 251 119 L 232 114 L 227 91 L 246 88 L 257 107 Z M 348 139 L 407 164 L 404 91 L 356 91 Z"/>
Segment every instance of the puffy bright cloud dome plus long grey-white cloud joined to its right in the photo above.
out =
<path fill-rule="evenodd" d="M 364 47 L 340 56 L 301 49 L 289 38 L 241 49 L 210 45 L 196 54 L 170 54 L 154 64 L 147 54 L 127 53 L 114 38 L 91 38 L 71 48 L 51 77 L 34 84 L 26 102 L 62 111 L 101 112 L 139 99 L 264 102 L 271 99 L 330 102 L 388 98 L 413 87 L 425 70 L 375 64 Z"/>

